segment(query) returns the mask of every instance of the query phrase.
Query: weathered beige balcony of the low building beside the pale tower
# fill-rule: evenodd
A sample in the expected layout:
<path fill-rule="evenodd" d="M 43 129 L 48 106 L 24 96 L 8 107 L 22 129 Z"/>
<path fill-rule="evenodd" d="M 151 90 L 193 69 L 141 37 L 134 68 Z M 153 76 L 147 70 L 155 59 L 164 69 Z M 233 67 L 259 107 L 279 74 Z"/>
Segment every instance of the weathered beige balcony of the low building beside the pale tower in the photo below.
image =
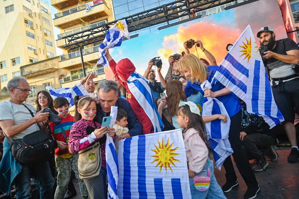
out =
<path fill-rule="evenodd" d="M 21 75 L 26 78 L 32 78 L 35 76 L 51 73 L 58 70 L 59 57 L 53 57 L 38 61 L 32 64 L 27 64 L 20 67 Z"/>

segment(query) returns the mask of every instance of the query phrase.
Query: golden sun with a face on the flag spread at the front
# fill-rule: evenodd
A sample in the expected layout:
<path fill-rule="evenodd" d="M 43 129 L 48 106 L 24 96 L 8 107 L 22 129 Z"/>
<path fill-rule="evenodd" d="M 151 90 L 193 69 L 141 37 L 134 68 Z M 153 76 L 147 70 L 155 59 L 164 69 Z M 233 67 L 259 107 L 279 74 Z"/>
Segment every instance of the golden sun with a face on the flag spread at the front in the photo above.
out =
<path fill-rule="evenodd" d="M 165 173 L 167 172 L 167 167 L 172 172 L 170 165 L 173 165 L 176 167 L 174 162 L 180 162 L 179 160 L 176 160 L 174 158 L 174 156 L 179 155 L 179 153 L 175 153 L 176 149 L 178 149 L 179 147 L 172 149 L 173 143 L 172 144 L 169 143 L 169 138 L 168 138 L 166 144 L 164 144 L 163 138 L 162 138 L 162 144 L 159 140 L 158 140 L 158 143 L 159 143 L 159 146 L 156 146 L 154 144 L 156 149 L 152 149 L 152 151 L 155 152 L 156 154 L 151 156 L 151 157 L 155 158 L 151 163 L 157 162 L 156 167 L 160 166 L 159 172 L 161 172 L 163 166 L 165 168 Z"/>

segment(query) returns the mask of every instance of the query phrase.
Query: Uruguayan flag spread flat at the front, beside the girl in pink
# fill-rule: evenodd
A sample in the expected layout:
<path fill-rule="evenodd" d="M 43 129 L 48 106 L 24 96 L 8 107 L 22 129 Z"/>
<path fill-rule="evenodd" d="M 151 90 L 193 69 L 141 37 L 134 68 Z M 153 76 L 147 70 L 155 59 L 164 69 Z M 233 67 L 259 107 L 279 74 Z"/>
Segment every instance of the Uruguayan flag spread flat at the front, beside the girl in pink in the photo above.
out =
<path fill-rule="evenodd" d="M 119 198 L 191 198 L 181 129 L 118 143 Z"/>

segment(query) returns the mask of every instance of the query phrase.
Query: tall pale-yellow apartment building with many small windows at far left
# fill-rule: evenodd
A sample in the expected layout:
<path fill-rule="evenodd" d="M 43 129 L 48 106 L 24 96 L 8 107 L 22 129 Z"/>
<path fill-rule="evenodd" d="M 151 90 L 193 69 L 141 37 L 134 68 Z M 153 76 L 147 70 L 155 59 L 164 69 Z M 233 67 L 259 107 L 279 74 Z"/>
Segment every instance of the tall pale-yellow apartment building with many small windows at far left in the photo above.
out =
<path fill-rule="evenodd" d="M 45 2 L 45 3 L 43 3 Z M 20 67 L 56 56 L 50 7 L 40 0 L 0 1 L 0 90 Z"/>

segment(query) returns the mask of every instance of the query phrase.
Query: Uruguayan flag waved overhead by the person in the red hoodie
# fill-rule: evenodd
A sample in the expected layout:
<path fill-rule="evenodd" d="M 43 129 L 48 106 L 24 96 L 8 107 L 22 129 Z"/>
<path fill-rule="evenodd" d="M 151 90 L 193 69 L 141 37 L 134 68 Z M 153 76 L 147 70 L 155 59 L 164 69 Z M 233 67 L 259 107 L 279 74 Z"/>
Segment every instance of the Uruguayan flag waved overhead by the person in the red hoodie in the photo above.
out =
<path fill-rule="evenodd" d="M 106 51 L 104 50 L 104 48 L 113 48 L 115 46 L 120 46 L 123 42 L 123 36 L 128 39 L 130 38 L 128 26 L 125 19 L 117 21 L 107 31 L 105 39 L 99 47 L 100 54 L 99 59 L 97 60 L 97 64 L 109 67 L 108 61 L 105 56 Z"/>

